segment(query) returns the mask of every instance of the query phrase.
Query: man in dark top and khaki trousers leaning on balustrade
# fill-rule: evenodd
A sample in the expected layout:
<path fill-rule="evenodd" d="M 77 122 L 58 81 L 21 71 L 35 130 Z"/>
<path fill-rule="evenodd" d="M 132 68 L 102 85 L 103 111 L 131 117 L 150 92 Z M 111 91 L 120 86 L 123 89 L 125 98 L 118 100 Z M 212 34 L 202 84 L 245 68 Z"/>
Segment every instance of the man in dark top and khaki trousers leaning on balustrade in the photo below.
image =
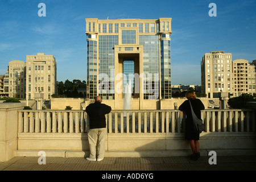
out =
<path fill-rule="evenodd" d="M 106 138 L 106 118 L 105 114 L 110 113 L 111 107 L 106 104 L 101 104 L 102 99 L 97 96 L 94 99 L 93 104 L 89 104 L 85 111 L 89 115 L 89 131 L 88 140 L 90 147 L 90 156 L 86 158 L 90 161 L 100 162 L 104 159 L 105 155 L 105 138 Z M 96 152 L 96 147 L 98 144 L 98 151 Z"/>

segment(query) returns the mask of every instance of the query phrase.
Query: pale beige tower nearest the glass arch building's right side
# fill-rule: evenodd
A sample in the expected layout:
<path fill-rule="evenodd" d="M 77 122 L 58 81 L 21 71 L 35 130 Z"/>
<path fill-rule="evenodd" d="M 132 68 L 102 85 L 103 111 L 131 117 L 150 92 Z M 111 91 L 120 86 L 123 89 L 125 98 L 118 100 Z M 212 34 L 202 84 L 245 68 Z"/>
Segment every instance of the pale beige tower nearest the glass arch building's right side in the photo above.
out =
<path fill-rule="evenodd" d="M 220 92 L 233 93 L 232 53 L 212 51 L 201 61 L 202 92 L 208 98 L 218 98 Z"/>

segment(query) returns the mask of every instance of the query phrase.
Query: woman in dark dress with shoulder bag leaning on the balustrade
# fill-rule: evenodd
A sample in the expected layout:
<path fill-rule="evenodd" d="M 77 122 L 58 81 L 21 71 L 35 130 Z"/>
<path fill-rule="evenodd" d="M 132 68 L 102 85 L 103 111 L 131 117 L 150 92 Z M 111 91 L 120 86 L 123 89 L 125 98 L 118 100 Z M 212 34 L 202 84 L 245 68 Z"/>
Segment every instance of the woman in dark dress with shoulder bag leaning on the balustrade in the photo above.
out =
<path fill-rule="evenodd" d="M 183 104 L 179 106 L 179 110 L 185 111 L 185 114 L 187 115 L 186 121 L 185 121 L 185 139 L 189 140 L 191 150 L 193 154 L 191 155 L 192 160 L 197 160 L 200 158 L 200 151 L 199 151 L 199 133 L 193 132 L 193 119 L 192 119 L 192 113 L 191 113 L 191 106 L 189 104 L 189 101 L 191 102 L 191 105 L 193 107 L 193 111 L 195 112 L 197 118 L 201 118 L 201 110 L 204 110 L 204 104 L 196 98 L 196 94 L 193 91 L 188 91 L 186 93 L 186 98 L 188 100 L 184 101 Z"/>

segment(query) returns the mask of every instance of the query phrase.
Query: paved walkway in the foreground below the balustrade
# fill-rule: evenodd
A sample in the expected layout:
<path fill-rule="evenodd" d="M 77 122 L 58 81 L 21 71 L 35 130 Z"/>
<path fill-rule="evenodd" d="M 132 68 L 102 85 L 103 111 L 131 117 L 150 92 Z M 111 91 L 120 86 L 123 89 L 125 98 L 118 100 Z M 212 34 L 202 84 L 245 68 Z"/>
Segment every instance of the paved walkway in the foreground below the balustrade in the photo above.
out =
<path fill-rule="evenodd" d="M 196 161 L 188 157 L 105 158 L 89 162 L 84 158 L 15 157 L 0 163 L 0 171 L 256 171 L 255 156 L 217 156 L 217 164 L 209 164 L 210 156 Z"/>

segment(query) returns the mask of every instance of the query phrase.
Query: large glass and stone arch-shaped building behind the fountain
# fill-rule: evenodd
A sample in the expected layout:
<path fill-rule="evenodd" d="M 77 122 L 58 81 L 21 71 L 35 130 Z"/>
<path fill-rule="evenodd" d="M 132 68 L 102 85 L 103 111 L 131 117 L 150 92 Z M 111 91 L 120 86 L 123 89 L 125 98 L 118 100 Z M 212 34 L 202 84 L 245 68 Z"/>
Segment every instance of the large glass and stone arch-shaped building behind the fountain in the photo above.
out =
<path fill-rule="evenodd" d="M 87 98 L 122 109 L 129 82 L 133 109 L 171 98 L 171 18 L 85 20 Z"/>

